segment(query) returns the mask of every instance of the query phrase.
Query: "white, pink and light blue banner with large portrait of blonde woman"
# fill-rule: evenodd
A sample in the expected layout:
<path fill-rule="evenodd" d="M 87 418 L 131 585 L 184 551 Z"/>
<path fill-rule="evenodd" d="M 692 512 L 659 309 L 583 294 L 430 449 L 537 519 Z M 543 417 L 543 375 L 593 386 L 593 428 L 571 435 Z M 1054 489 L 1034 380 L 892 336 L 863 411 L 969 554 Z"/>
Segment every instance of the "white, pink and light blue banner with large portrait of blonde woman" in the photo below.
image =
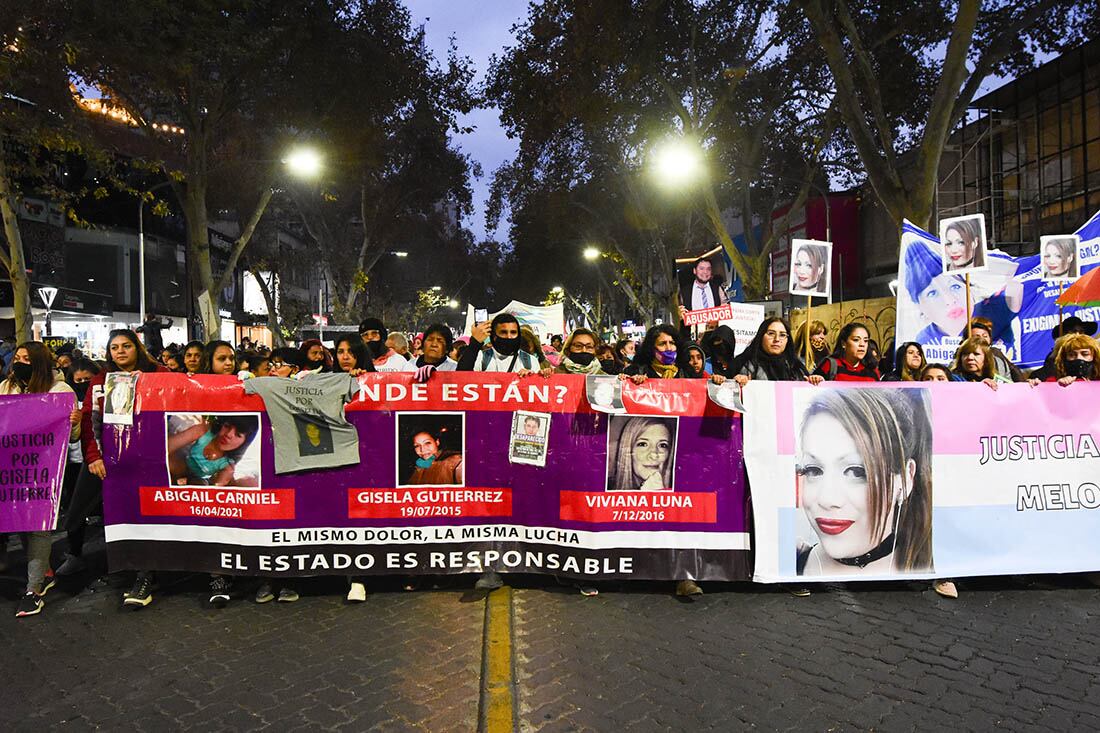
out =
<path fill-rule="evenodd" d="M 1100 385 L 750 382 L 759 582 L 1100 570 Z"/>

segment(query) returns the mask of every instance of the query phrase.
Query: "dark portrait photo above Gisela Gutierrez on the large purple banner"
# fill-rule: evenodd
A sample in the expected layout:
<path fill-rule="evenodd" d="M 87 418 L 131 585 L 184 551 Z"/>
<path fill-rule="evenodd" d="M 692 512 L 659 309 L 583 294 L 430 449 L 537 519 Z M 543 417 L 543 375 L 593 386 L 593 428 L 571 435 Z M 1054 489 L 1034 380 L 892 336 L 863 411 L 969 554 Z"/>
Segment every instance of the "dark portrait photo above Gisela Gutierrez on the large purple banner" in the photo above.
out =
<path fill-rule="evenodd" d="M 397 415 L 397 485 L 465 485 L 465 415 Z"/>

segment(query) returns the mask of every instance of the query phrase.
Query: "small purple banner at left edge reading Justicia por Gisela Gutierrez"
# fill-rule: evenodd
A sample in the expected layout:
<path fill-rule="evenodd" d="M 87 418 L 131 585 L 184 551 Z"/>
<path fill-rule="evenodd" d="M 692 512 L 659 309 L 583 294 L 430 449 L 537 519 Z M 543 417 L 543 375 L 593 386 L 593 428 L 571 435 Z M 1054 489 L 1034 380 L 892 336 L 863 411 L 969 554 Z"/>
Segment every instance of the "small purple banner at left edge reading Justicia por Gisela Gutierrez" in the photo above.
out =
<path fill-rule="evenodd" d="M 72 394 L 0 396 L 0 533 L 57 524 Z"/>

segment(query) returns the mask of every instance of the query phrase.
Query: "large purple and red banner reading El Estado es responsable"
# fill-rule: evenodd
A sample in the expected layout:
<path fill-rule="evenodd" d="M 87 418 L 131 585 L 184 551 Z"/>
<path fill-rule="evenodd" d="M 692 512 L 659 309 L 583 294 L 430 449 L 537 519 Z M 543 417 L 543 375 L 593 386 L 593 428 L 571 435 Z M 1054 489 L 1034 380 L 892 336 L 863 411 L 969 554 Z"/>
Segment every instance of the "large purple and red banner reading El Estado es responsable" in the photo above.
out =
<path fill-rule="evenodd" d="M 607 415 L 579 376 L 413 378 L 349 381 L 349 457 L 293 406 L 324 398 L 314 378 L 277 383 L 287 409 L 233 378 L 142 375 L 133 425 L 105 427 L 111 568 L 749 578 L 741 420 L 704 381 L 627 382 Z"/>

